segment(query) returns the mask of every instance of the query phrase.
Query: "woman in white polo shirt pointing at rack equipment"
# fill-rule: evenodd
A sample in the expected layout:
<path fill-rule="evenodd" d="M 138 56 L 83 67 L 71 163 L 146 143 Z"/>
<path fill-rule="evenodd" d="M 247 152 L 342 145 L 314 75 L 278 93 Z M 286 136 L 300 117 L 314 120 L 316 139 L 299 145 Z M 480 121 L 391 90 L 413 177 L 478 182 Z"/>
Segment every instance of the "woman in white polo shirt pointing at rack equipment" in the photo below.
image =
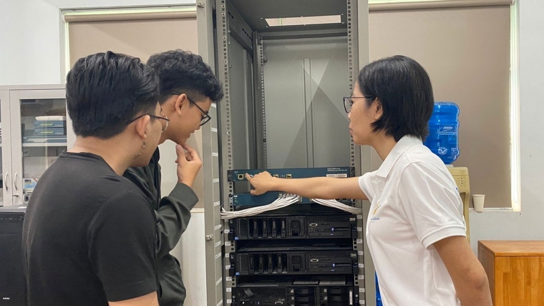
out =
<path fill-rule="evenodd" d="M 446 166 L 423 146 L 434 97 L 428 74 L 396 55 L 362 68 L 344 98 L 349 130 L 384 160 L 358 178 L 246 178 L 308 198 L 368 199 L 366 237 L 384 305 L 492 305 L 484 268 L 466 239 L 462 203 Z"/>

